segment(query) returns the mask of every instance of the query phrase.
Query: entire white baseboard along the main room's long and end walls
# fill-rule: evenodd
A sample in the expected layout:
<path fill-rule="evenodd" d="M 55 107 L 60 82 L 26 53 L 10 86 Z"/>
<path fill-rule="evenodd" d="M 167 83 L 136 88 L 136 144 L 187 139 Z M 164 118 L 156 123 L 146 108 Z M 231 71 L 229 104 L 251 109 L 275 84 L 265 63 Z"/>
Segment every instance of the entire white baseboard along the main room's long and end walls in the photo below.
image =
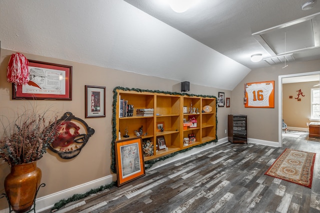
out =
<path fill-rule="evenodd" d="M 157 162 L 149 170 L 164 166 L 164 165 L 169 164 L 171 162 L 185 158 L 189 155 L 194 155 L 196 153 L 199 153 L 201 151 L 210 149 L 212 147 L 215 147 L 215 146 L 218 146 L 218 145 L 221 145 L 224 143 L 228 143 L 227 137 L 219 139 L 217 141 L 217 143 L 209 143 L 209 144 L 204 145 L 202 147 L 197 147 L 197 148 L 188 150 L 184 153 L 179 153 L 172 158 L 165 159 L 164 161 Z M 277 142 L 264 141 L 264 140 L 253 139 L 253 138 L 248 138 L 248 143 L 255 143 L 255 144 L 261 144 L 261 145 L 273 146 L 273 147 L 278 147 L 278 145 L 279 145 Z M 109 175 L 109 176 L 106 176 L 106 177 L 103 177 L 103 178 L 100 178 L 97 180 L 93 180 L 93 181 L 87 182 L 85 184 L 81 184 L 81 185 L 78 185 L 78 186 L 75 186 L 75 187 L 72 187 L 72 188 L 69 188 L 66 190 L 62 190 L 60 192 L 53 193 L 51 195 L 47 195 L 47 196 L 38 198 L 35 200 L 36 212 L 42 212 L 42 211 L 51 209 L 55 203 L 59 202 L 62 199 L 67 199 L 69 197 L 72 197 L 74 194 L 86 193 L 91 189 L 96 189 L 96 188 L 99 188 L 100 186 L 110 184 L 112 181 L 115 181 L 115 180 L 116 180 L 116 174 L 113 174 L 113 175 Z M 0 213 L 8 213 L 8 212 L 9 212 L 8 208 L 0 210 Z"/>

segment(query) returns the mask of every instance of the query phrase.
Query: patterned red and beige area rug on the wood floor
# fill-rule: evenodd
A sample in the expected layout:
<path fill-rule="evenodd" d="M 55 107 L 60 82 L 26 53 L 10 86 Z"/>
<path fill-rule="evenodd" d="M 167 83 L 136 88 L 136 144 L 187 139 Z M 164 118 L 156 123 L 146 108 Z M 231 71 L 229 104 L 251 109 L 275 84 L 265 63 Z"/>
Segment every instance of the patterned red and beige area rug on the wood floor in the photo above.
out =
<path fill-rule="evenodd" d="M 265 175 L 311 188 L 315 153 L 285 149 Z"/>

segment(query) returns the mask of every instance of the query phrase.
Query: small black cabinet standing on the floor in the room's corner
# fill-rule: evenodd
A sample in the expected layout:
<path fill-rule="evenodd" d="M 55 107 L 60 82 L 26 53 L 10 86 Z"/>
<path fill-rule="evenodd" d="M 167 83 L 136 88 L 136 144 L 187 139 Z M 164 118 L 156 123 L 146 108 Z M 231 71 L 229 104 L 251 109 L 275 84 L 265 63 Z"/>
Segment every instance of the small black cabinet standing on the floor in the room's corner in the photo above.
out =
<path fill-rule="evenodd" d="M 228 115 L 228 141 L 247 143 L 246 115 Z"/>

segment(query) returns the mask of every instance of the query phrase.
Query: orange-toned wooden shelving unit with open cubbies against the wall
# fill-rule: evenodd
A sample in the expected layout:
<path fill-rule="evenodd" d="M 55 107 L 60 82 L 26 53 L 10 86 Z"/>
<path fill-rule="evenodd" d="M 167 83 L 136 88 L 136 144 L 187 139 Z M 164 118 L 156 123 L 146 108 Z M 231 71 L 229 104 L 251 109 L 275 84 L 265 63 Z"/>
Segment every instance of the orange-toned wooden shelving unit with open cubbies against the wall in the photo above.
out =
<path fill-rule="evenodd" d="M 135 137 L 135 130 L 142 127 L 142 140 L 148 139 L 153 143 L 153 156 L 144 157 L 144 161 L 159 158 L 192 146 L 196 146 L 216 139 L 216 100 L 215 98 L 164 94 L 158 92 L 139 92 L 131 90 L 116 90 L 116 132 L 120 130 L 123 136 L 125 129 L 129 137 Z M 127 104 L 133 105 L 133 116 L 119 117 L 119 101 L 127 100 Z M 183 113 L 183 106 L 188 110 L 192 105 L 192 111 Z M 211 112 L 202 112 L 205 105 L 212 107 Z M 152 108 L 153 116 L 142 117 L 136 115 L 136 109 Z M 194 113 L 195 112 L 195 113 Z M 196 127 L 183 129 L 183 119 L 189 116 L 195 117 Z M 157 124 L 163 123 L 164 130 L 158 131 Z M 195 142 L 187 146 L 183 145 L 183 138 L 189 134 L 195 135 Z M 156 139 L 162 136 L 165 139 L 166 150 L 156 150 Z M 118 140 L 118 138 L 116 139 Z"/>

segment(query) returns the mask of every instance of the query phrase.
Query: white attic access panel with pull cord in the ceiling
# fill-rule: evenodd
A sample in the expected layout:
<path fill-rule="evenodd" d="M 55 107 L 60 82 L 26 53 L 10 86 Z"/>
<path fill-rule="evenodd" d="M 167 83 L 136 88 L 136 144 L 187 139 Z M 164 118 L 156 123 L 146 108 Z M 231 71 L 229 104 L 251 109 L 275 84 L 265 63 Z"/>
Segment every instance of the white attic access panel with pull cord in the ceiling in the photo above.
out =
<path fill-rule="evenodd" d="M 261 34 L 261 37 L 276 55 L 284 52 L 292 52 L 299 49 L 314 47 L 314 36 L 311 19 L 291 26 L 263 33 Z"/>

